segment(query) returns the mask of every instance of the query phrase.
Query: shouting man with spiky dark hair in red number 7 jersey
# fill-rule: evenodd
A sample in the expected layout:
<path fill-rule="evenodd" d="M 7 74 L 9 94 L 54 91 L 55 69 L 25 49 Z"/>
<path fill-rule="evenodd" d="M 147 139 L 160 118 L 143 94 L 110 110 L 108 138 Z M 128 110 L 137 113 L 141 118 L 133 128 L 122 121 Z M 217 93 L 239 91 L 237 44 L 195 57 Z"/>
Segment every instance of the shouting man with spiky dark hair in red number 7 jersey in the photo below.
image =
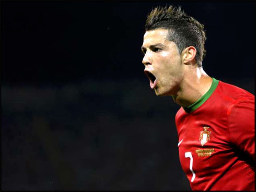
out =
<path fill-rule="evenodd" d="M 171 95 L 179 158 L 193 190 L 255 190 L 254 95 L 202 68 L 203 25 L 181 8 L 155 8 L 142 63 L 156 95 Z"/>

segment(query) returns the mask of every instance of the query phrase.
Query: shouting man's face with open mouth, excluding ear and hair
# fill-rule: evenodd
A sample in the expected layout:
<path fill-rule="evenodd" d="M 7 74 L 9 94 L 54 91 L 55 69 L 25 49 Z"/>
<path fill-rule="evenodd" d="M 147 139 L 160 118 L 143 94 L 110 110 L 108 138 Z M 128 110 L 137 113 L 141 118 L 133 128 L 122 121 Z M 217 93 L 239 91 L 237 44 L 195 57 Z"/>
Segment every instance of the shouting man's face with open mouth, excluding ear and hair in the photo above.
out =
<path fill-rule="evenodd" d="M 142 63 L 156 95 L 176 95 L 183 80 L 183 65 L 178 47 L 169 41 L 168 30 L 146 31 Z"/>

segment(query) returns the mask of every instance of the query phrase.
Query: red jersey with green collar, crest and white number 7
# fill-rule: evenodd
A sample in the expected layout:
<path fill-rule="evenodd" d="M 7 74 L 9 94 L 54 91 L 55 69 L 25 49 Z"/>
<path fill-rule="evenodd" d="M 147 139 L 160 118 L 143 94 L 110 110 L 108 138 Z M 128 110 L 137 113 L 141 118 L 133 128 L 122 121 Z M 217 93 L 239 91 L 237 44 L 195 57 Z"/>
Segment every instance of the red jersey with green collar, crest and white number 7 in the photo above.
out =
<path fill-rule="evenodd" d="M 176 114 L 179 158 L 192 190 L 255 190 L 253 94 L 213 78 Z"/>

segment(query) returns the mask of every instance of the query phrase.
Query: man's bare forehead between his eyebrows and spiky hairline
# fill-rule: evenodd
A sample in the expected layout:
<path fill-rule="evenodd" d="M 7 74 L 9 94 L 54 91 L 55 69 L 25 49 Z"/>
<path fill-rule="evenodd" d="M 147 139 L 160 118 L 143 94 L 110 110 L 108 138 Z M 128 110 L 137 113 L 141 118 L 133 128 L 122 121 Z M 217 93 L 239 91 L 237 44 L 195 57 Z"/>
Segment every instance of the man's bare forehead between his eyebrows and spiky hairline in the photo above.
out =
<path fill-rule="evenodd" d="M 150 44 L 156 44 L 156 43 L 170 43 L 169 40 L 167 40 L 168 30 L 167 29 L 156 29 L 156 30 L 150 30 L 146 31 L 144 34 L 144 40 L 143 40 L 143 46 L 149 46 Z"/>

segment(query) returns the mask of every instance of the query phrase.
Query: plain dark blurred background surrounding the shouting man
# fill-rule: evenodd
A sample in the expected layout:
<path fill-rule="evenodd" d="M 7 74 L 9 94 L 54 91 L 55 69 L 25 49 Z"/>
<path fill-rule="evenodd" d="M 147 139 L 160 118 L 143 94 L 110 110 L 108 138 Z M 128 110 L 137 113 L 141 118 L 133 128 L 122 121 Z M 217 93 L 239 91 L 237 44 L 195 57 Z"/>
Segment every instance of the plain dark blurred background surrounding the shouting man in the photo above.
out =
<path fill-rule="evenodd" d="M 1 1 L 2 190 L 190 190 L 179 105 L 142 65 L 166 4 L 205 25 L 206 73 L 254 94 L 254 1 Z"/>

